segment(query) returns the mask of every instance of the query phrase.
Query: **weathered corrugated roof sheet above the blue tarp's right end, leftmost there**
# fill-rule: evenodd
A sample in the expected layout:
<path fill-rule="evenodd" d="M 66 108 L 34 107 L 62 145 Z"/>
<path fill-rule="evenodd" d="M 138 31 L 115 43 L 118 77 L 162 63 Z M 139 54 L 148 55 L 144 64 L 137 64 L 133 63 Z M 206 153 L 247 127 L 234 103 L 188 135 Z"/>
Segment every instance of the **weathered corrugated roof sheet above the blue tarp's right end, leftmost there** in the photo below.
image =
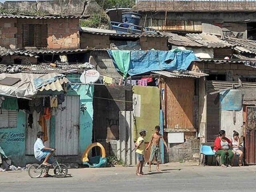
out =
<path fill-rule="evenodd" d="M 202 44 L 190 40 L 186 36 L 181 36 L 170 32 L 159 32 L 163 36 L 168 37 L 168 41 L 173 45 L 188 46 L 188 47 L 203 47 Z"/>

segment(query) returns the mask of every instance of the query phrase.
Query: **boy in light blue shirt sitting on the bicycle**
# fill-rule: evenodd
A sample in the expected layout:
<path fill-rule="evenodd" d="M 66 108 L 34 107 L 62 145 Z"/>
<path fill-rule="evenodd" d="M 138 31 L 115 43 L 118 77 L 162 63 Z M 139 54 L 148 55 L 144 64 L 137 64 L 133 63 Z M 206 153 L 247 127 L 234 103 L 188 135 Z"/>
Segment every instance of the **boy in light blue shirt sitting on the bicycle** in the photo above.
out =
<path fill-rule="evenodd" d="M 37 133 L 37 140 L 34 144 L 34 156 L 38 161 L 43 161 L 44 166 L 48 166 L 50 168 L 51 164 L 54 162 L 54 159 L 50 158 L 55 151 L 55 149 L 48 148 L 44 146 L 44 132 L 39 131 Z M 50 163 L 48 163 L 48 161 Z M 48 174 L 49 169 L 46 169 L 46 172 L 44 174 L 44 177 L 49 177 L 50 175 Z"/>

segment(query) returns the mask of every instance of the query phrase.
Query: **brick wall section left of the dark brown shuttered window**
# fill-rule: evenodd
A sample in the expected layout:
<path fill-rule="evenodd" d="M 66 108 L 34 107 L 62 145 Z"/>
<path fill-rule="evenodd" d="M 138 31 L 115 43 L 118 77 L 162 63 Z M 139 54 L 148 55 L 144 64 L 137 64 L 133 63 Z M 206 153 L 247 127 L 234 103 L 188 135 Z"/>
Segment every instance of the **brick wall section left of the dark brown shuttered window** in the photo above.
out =
<path fill-rule="evenodd" d="M 17 19 L 0 19 L 0 46 L 15 49 L 17 47 Z"/>

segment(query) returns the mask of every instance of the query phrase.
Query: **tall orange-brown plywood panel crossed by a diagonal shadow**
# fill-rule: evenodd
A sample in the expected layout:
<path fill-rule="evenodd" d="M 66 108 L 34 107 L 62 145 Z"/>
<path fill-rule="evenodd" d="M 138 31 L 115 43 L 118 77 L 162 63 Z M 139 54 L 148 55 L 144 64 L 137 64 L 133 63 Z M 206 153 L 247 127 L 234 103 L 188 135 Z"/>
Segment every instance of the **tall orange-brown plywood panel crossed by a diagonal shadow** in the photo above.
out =
<path fill-rule="evenodd" d="M 194 129 L 194 79 L 168 78 L 167 128 Z"/>

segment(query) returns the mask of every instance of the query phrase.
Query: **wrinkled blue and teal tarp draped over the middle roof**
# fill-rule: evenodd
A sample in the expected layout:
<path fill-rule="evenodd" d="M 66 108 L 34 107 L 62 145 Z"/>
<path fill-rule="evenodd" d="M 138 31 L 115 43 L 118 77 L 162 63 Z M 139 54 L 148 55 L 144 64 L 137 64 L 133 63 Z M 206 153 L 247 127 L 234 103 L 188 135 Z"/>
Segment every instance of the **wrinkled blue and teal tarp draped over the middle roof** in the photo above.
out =
<path fill-rule="evenodd" d="M 122 57 L 122 53 L 125 56 Z M 121 71 L 124 76 L 143 74 L 157 70 L 187 70 L 191 62 L 197 60 L 193 51 L 130 51 L 130 60 L 123 58 L 127 56 L 127 51 L 108 50 L 108 54 L 113 59 L 114 65 L 118 71 Z M 113 56 L 114 55 L 114 56 Z M 117 59 L 116 56 L 121 58 Z M 119 61 L 122 60 L 122 63 Z M 120 65 L 122 68 L 120 68 Z M 118 67 L 119 66 L 119 67 Z M 128 69 L 124 71 L 123 69 Z"/>

